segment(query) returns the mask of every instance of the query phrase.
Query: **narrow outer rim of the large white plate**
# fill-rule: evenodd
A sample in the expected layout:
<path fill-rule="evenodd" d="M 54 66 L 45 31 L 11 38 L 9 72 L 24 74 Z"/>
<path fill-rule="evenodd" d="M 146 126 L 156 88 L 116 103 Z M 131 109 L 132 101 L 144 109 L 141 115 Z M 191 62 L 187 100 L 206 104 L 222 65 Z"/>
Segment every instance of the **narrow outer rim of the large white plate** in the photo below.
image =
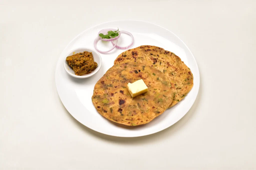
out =
<path fill-rule="evenodd" d="M 157 25 L 157 24 L 155 24 L 155 23 L 152 23 L 152 22 L 142 21 L 142 20 L 133 20 L 133 19 L 122 19 L 122 20 L 112 20 L 112 21 L 102 22 L 102 23 L 99 23 L 99 24 L 97 24 L 97 25 L 93 25 L 93 26 L 91 26 L 91 27 L 85 29 L 84 31 L 80 32 L 76 37 L 74 37 L 72 40 L 70 40 L 70 42 L 69 42 L 69 43 L 66 45 L 66 47 L 62 50 L 60 56 L 63 55 L 63 52 L 67 49 L 67 47 L 68 47 L 76 38 L 78 38 L 81 34 L 83 34 L 84 32 L 86 32 L 87 30 L 90 30 L 90 29 L 92 29 L 92 28 L 94 28 L 94 27 L 97 27 L 97 26 L 102 25 L 102 24 L 105 24 L 105 23 L 118 22 L 118 21 L 144 22 L 144 23 L 148 23 L 148 24 L 152 24 L 152 25 L 161 27 L 161 28 L 163 28 L 163 29 L 165 29 L 165 30 L 171 32 L 173 35 L 175 35 L 175 37 L 178 38 L 178 39 L 186 46 L 186 48 L 188 49 L 188 51 L 189 51 L 190 54 L 192 55 L 193 59 L 195 60 L 196 70 L 198 71 L 198 82 L 199 82 L 199 83 L 198 83 L 198 88 L 196 89 L 196 98 L 197 98 L 198 92 L 199 92 L 199 88 L 200 88 L 200 72 L 199 72 L 199 68 L 198 68 L 198 65 L 197 65 L 197 62 L 196 62 L 196 59 L 195 59 L 193 53 L 190 51 L 190 49 L 188 48 L 188 46 L 187 46 L 176 34 L 174 34 L 172 31 L 168 30 L 167 28 L 164 28 L 164 27 L 159 26 L 159 25 Z M 60 56 L 59 56 L 59 58 L 60 58 Z M 59 91 L 58 91 L 58 88 L 57 88 L 57 80 L 56 80 L 56 74 L 57 74 L 58 63 L 59 63 L 59 59 L 58 59 L 58 61 L 57 61 L 56 69 L 55 69 L 55 85 L 56 85 L 56 89 L 57 89 L 57 92 L 58 92 L 58 95 L 59 95 L 59 99 L 61 100 L 60 94 L 59 94 Z M 192 105 L 190 106 L 190 108 L 188 109 L 188 111 L 189 111 L 189 110 L 191 109 L 191 107 L 194 105 L 194 103 L 195 103 L 195 101 L 196 101 L 196 98 L 195 98 L 195 100 L 193 101 L 193 103 L 192 103 Z M 61 103 L 62 103 L 62 105 L 65 107 L 65 109 L 68 111 L 68 109 L 66 108 L 66 106 L 63 104 L 62 100 L 61 100 Z M 188 113 L 188 111 L 186 111 L 186 113 L 185 113 L 179 120 L 181 120 L 181 119 Z M 68 112 L 69 112 L 69 111 L 68 111 Z M 69 112 L 69 114 L 70 114 L 74 119 L 76 119 L 70 112 Z M 76 120 L 77 120 L 80 124 L 82 124 L 78 119 L 76 119 Z M 175 121 L 175 123 L 173 123 L 172 125 L 176 124 L 179 120 Z M 84 125 L 84 124 L 82 124 L 82 125 L 83 125 L 83 126 L 86 126 L 86 125 Z M 144 134 L 144 135 L 135 135 L 135 136 L 120 136 L 120 135 L 117 136 L 117 135 L 111 135 L 111 134 L 108 134 L 108 133 L 100 132 L 100 131 L 95 130 L 94 128 L 91 128 L 91 127 L 88 127 L 88 126 L 86 126 L 86 127 L 89 128 L 89 129 L 92 129 L 92 130 L 94 130 L 94 131 L 96 131 L 96 132 L 99 132 L 99 133 L 102 133 L 102 134 L 105 134 L 105 135 L 109 135 L 109 136 L 124 137 L 124 138 L 132 138 L 132 137 L 141 137 L 141 136 L 152 135 L 152 134 L 154 134 L 154 133 L 157 133 L 157 132 L 160 132 L 160 131 L 162 131 L 162 130 L 167 129 L 167 128 L 171 127 L 172 125 L 167 126 L 167 127 L 164 127 L 164 128 L 161 129 L 161 130 L 156 130 L 156 131 L 154 131 L 154 132 L 152 132 L 152 133 L 149 132 L 149 133 L 146 133 L 146 134 Z"/>

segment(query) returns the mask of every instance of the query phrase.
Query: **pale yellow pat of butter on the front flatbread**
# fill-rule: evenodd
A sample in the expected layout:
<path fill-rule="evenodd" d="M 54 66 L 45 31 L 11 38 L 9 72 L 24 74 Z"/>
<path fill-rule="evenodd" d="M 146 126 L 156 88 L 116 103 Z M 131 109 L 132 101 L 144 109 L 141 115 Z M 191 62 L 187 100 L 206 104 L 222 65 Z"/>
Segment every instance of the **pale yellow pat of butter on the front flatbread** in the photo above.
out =
<path fill-rule="evenodd" d="M 133 83 L 128 83 L 127 87 L 133 98 L 148 91 L 147 85 L 142 79 L 137 80 Z"/>

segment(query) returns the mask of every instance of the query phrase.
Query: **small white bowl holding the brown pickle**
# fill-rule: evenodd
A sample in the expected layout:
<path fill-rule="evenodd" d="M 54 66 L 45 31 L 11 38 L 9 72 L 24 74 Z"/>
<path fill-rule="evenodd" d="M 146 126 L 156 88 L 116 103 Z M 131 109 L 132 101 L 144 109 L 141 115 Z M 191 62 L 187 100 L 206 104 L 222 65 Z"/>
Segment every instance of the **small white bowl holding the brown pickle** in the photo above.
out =
<path fill-rule="evenodd" d="M 66 58 L 67 58 L 68 56 L 73 55 L 73 54 L 82 53 L 82 52 L 84 52 L 84 51 L 92 52 L 93 59 L 94 59 L 94 61 L 98 64 L 98 66 L 97 66 L 97 68 L 96 68 L 95 70 L 93 70 L 91 73 L 86 74 L 86 75 L 83 75 L 83 76 L 78 76 L 78 75 L 75 75 L 74 70 L 68 65 L 68 63 L 67 63 L 67 61 L 66 61 Z M 99 54 L 97 51 L 95 51 L 95 50 L 93 50 L 93 49 L 91 49 L 91 48 L 86 48 L 86 47 L 80 47 L 80 48 L 76 48 L 76 49 L 70 51 L 70 52 L 66 55 L 66 57 L 64 58 L 64 61 L 63 61 L 63 66 L 64 66 L 64 69 L 67 71 L 67 73 L 68 73 L 70 76 L 72 76 L 72 77 L 76 77 L 76 78 L 80 78 L 80 79 L 82 79 L 82 78 L 88 78 L 88 77 L 91 77 L 91 76 L 93 76 L 94 74 L 96 74 L 96 73 L 100 70 L 101 64 L 102 64 L 102 59 L 101 59 L 100 54 Z"/>

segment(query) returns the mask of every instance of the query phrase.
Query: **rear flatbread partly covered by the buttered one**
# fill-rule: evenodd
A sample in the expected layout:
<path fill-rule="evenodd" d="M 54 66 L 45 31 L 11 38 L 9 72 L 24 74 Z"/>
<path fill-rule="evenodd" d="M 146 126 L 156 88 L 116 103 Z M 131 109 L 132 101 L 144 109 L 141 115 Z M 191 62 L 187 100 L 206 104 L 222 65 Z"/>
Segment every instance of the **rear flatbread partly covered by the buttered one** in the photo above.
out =
<path fill-rule="evenodd" d="M 114 64 L 139 62 L 164 73 L 174 88 L 173 102 L 169 107 L 181 101 L 193 87 L 193 74 L 181 59 L 163 48 L 142 45 L 121 53 Z"/>

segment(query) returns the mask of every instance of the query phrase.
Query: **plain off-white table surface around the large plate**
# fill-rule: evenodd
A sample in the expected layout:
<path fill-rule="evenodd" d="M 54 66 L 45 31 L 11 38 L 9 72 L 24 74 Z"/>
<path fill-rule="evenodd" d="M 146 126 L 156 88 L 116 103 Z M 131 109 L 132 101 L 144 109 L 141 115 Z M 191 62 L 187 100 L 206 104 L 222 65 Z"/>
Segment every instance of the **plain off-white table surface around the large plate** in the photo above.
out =
<path fill-rule="evenodd" d="M 0 1 L 0 169 L 256 169 L 255 9 L 254 0 Z M 153 135 L 95 132 L 56 90 L 66 45 L 120 19 L 169 29 L 199 67 L 194 105 Z"/>

